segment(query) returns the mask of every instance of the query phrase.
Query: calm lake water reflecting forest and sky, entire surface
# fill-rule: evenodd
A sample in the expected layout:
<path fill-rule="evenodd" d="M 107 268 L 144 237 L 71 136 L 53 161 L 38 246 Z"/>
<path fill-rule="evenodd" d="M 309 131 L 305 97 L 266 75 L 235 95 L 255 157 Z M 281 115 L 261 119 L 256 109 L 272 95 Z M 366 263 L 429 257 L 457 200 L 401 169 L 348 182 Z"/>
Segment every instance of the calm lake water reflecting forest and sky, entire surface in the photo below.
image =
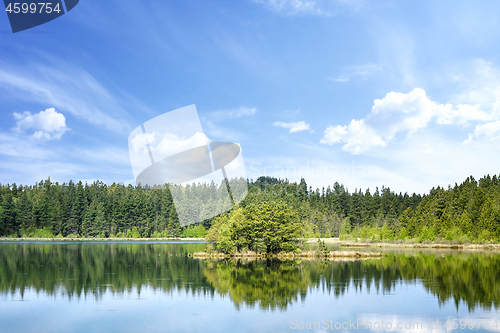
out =
<path fill-rule="evenodd" d="M 498 253 L 387 250 L 347 262 L 186 256 L 204 248 L 0 243 L 0 332 L 500 331 Z"/>

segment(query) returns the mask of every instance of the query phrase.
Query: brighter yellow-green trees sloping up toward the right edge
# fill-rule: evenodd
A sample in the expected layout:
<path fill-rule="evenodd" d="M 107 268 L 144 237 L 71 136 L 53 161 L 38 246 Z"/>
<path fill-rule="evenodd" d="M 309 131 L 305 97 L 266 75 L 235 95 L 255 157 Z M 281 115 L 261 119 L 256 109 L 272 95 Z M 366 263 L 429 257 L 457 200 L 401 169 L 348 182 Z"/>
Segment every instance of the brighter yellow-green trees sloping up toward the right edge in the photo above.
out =
<path fill-rule="evenodd" d="M 344 237 L 417 242 L 500 242 L 500 178 L 472 176 L 447 189 L 433 188 L 416 207 L 408 207 L 382 228 L 341 228 Z M 342 235 L 341 235 L 342 236 Z"/>

